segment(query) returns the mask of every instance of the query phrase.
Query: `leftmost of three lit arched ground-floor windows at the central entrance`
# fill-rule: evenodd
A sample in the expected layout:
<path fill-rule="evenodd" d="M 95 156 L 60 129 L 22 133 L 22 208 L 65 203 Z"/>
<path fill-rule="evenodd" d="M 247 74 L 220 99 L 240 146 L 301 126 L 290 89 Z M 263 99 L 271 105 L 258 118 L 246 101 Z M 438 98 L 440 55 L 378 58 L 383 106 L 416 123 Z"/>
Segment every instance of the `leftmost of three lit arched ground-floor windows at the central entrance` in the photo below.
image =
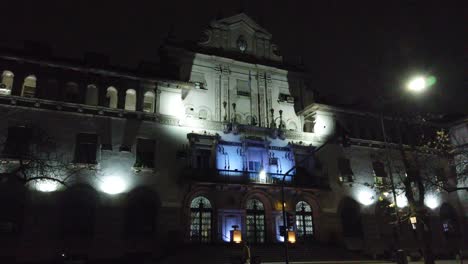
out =
<path fill-rule="evenodd" d="M 193 198 L 190 203 L 191 241 L 211 241 L 211 217 L 212 208 L 210 201 L 203 196 Z"/>

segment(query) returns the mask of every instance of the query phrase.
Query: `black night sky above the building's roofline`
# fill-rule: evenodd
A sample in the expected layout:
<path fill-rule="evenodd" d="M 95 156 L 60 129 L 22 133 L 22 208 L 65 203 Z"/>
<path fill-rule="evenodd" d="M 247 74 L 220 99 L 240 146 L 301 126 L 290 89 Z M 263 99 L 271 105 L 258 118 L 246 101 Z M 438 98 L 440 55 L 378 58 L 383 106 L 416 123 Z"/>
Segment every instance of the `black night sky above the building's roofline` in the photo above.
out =
<path fill-rule="evenodd" d="M 93 51 L 127 67 L 156 61 L 171 27 L 177 38 L 196 40 L 210 20 L 243 7 L 273 34 L 285 57 L 303 57 L 312 88 L 334 102 L 365 106 L 385 92 L 420 110 L 468 114 L 464 1 L 8 2 L 1 46 L 35 40 L 51 44 L 56 56 Z M 437 83 L 424 96 L 408 98 L 403 81 L 415 73 L 431 74 Z"/>

